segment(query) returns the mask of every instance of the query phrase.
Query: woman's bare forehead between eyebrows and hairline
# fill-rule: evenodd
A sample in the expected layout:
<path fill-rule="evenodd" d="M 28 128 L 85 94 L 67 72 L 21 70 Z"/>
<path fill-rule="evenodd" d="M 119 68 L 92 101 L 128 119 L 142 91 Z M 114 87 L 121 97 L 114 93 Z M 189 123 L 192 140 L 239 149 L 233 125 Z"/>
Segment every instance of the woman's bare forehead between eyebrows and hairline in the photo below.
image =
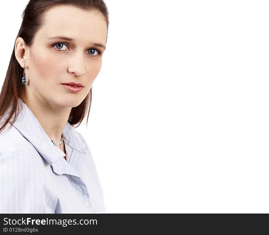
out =
<path fill-rule="evenodd" d="M 71 37 L 76 42 L 96 41 L 105 45 L 107 24 L 105 17 L 99 12 L 61 5 L 49 9 L 44 20 L 37 37 L 62 35 Z"/>

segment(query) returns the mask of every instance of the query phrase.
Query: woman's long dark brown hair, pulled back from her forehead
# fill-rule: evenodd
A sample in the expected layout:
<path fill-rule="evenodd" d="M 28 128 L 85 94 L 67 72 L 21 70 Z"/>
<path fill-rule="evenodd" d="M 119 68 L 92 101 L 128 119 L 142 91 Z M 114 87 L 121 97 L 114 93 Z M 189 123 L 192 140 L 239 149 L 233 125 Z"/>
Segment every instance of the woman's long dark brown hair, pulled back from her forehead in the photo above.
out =
<path fill-rule="evenodd" d="M 42 27 L 44 23 L 44 14 L 47 10 L 53 6 L 58 5 L 71 5 L 83 9 L 85 11 L 98 11 L 105 17 L 107 28 L 109 26 L 109 13 L 107 6 L 102 0 L 30 0 L 22 13 L 22 23 L 20 30 L 16 37 L 24 39 L 25 44 L 30 47 L 33 44 L 35 33 Z M 106 38 L 107 39 L 107 38 Z M 15 43 L 16 43 L 15 40 Z M 13 52 L 9 61 L 9 66 L 6 73 L 2 90 L 0 93 L 0 121 L 3 120 L 3 125 L 0 128 L 0 132 L 9 123 L 9 120 L 14 116 L 12 124 L 15 122 L 19 111 L 17 110 L 19 100 L 22 95 L 22 74 L 24 68 L 22 68 L 15 57 L 15 43 Z M 87 124 L 90 113 L 90 106 L 92 101 L 92 88 L 88 95 L 81 104 L 71 109 L 68 121 L 71 125 L 75 125 L 83 121 L 87 115 Z M 8 110 L 8 108 L 10 109 Z M 0 122 L 1 123 L 1 122 Z M 78 127 L 77 125 L 76 127 Z M 10 125 L 11 127 L 11 125 Z"/>

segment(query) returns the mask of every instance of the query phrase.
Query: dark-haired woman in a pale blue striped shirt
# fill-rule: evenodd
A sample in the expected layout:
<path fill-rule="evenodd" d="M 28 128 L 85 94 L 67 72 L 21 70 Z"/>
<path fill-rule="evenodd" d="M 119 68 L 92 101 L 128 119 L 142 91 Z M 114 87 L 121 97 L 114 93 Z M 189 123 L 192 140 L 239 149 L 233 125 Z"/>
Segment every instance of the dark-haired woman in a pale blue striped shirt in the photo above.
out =
<path fill-rule="evenodd" d="M 105 212 L 73 125 L 89 116 L 108 25 L 101 0 L 28 2 L 0 94 L 1 213 Z"/>

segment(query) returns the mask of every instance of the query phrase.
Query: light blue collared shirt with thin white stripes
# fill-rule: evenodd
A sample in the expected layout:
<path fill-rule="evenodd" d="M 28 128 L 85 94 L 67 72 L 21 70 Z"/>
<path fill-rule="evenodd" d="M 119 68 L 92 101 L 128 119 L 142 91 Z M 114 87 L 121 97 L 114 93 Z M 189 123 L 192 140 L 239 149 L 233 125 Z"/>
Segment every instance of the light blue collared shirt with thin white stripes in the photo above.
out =
<path fill-rule="evenodd" d="M 19 105 L 15 123 L 0 135 L 0 213 L 105 213 L 83 136 L 67 122 L 64 154 L 20 98 Z"/>

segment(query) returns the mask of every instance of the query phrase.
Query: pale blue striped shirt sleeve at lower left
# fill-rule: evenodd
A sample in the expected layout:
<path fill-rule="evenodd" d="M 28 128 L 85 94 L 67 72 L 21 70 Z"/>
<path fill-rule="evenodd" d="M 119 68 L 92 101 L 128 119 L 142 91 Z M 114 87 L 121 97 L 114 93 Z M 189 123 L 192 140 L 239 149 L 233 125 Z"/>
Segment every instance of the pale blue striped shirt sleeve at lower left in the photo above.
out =
<path fill-rule="evenodd" d="M 44 172 L 30 155 L 1 155 L 0 213 L 54 213 L 58 199 Z"/>

